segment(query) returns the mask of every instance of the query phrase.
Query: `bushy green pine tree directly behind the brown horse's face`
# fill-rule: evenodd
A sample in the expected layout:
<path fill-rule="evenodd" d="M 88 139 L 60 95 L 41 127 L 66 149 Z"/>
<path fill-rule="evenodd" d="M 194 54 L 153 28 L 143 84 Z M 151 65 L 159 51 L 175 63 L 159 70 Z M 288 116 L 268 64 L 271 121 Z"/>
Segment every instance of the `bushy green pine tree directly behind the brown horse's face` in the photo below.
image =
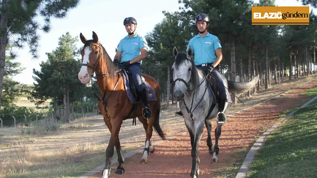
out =
<path fill-rule="evenodd" d="M 77 48 L 77 37 L 71 37 L 67 32 L 59 38 L 58 47 L 50 53 L 46 53 L 48 60 L 40 64 L 41 71 L 33 69 L 37 82 L 34 83 L 32 96 L 37 105 L 49 98 L 54 98 L 58 105 L 63 104 L 65 89 L 69 88 L 70 102 L 79 101 L 86 91 L 85 85 L 78 80 L 77 73 L 80 70 L 81 61 L 74 59 Z"/>

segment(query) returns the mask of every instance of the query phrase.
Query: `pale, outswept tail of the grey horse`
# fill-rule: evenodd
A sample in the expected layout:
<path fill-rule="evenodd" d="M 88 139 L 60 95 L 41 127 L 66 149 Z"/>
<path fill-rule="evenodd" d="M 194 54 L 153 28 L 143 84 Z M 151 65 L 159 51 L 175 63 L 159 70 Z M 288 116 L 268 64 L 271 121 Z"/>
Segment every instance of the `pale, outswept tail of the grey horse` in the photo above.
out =
<path fill-rule="evenodd" d="M 244 92 L 247 92 L 252 87 L 254 87 L 254 85 L 256 85 L 256 83 L 258 82 L 258 80 L 259 80 L 259 75 L 255 77 L 249 83 L 240 83 L 240 82 L 233 82 L 233 81 L 227 80 L 228 89 L 235 94 L 242 94 Z"/>

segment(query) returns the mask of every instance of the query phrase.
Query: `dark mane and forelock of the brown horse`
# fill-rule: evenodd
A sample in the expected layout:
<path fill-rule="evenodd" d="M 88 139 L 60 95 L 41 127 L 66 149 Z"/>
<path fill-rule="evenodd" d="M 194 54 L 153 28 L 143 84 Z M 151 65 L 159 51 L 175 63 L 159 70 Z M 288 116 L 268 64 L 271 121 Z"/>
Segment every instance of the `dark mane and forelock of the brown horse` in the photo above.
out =
<path fill-rule="evenodd" d="M 85 48 L 86 46 L 89 46 L 90 43 L 93 43 L 93 42 L 94 42 L 94 40 L 87 40 L 83 48 Z M 101 64 L 102 64 L 101 67 L 103 67 L 103 69 L 105 69 L 105 66 L 107 66 L 107 71 L 105 71 L 105 73 L 109 73 L 110 78 L 114 79 L 116 71 L 118 70 L 118 67 L 116 65 L 114 65 L 114 63 L 113 63 L 112 59 L 110 58 L 109 54 L 107 53 L 106 49 L 101 45 L 100 42 L 99 42 L 99 45 L 102 48 L 102 51 L 104 52 L 104 55 L 102 55 L 100 59 L 101 59 L 101 61 L 106 62 L 106 65 L 102 64 L 102 62 L 101 62 Z"/>

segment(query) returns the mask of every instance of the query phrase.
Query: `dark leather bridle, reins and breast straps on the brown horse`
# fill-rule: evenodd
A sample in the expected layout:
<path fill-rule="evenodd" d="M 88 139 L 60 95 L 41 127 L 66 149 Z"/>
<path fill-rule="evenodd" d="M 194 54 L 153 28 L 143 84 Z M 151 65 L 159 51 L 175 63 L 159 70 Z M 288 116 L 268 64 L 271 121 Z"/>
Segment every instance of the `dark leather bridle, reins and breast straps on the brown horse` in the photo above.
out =
<path fill-rule="evenodd" d="M 106 115 L 107 115 L 107 119 L 110 120 L 110 118 L 109 118 L 109 116 L 108 116 L 107 109 L 106 109 L 107 100 L 109 99 L 109 97 L 111 96 L 111 94 L 113 93 L 113 91 L 114 91 L 114 90 L 117 88 L 117 86 L 118 86 L 119 79 L 120 79 L 120 73 L 117 71 L 117 72 L 118 72 L 117 82 L 116 82 L 116 84 L 114 85 L 114 87 L 113 87 L 112 91 L 110 92 L 110 94 L 109 94 L 109 95 L 107 96 L 107 98 L 105 99 L 106 92 L 107 92 L 107 79 L 108 79 L 108 75 L 110 75 L 110 74 L 109 74 L 109 73 L 97 73 L 97 72 L 96 72 L 97 69 L 98 69 L 98 66 L 99 66 L 100 58 L 101 58 L 101 47 L 100 47 L 99 45 L 97 45 L 97 44 L 93 44 L 92 42 L 89 44 L 89 47 L 91 47 L 91 46 L 97 46 L 97 47 L 99 47 L 99 55 L 98 55 L 97 61 L 95 62 L 94 65 L 91 65 L 91 64 L 81 64 L 81 66 L 87 66 L 87 67 L 93 68 L 93 73 L 92 73 L 91 76 L 90 76 L 90 77 L 91 77 L 91 90 L 93 91 L 95 97 L 96 97 L 101 103 L 103 103 L 104 108 L 105 108 L 105 113 L 106 113 Z M 101 61 L 101 62 L 102 62 L 102 61 Z M 101 64 L 101 65 L 102 65 L 102 64 Z M 94 90 L 93 90 L 93 87 L 92 87 L 92 86 L 93 86 L 94 73 L 96 74 L 96 77 L 97 77 L 97 76 L 106 76 L 106 87 L 105 87 L 105 92 L 103 93 L 102 99 L 99 98 L 99 97 L 95 94 L 95 92 L 94 92 Z"/>

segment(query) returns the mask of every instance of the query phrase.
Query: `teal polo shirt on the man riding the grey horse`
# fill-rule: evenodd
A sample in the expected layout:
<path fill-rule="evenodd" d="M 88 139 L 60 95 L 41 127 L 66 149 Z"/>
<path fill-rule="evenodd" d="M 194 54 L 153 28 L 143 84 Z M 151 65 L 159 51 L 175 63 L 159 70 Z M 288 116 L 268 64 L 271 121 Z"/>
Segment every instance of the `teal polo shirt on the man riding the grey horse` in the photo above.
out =
<path fill-rule="evenodd" d="M 195 65 L 215 62 L 217 58 L 215 50 L 221 48 L 218 37 L 210 33 L 207 33 L 204 37 L 201 37 L 199 34 L 194 36 L 191 40 L 189 40 L 186 52 L 188 51 L 189 46 L 191 46 L 195 54 Z"/>

